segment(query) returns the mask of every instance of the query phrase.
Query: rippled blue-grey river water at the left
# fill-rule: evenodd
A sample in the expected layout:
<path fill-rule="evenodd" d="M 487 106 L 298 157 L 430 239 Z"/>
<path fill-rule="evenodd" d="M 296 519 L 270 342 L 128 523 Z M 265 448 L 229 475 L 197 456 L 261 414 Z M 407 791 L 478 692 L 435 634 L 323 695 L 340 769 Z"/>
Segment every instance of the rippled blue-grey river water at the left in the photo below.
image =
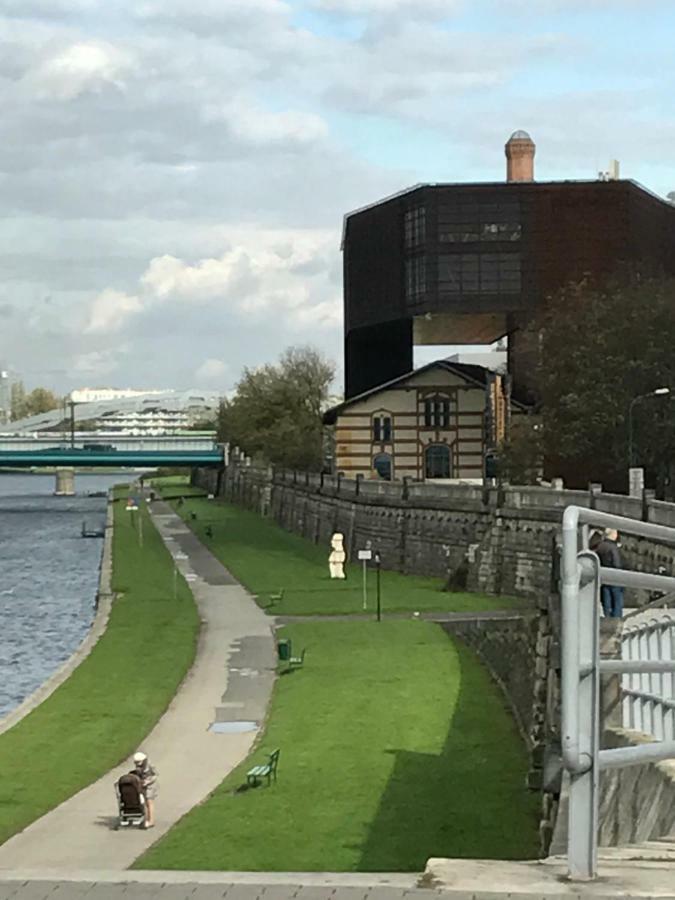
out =
<path fill-rule="evenodd" d="M 0 474 L 0 719 L 77 648 L 94 617 L 107 491 L 129 474 L 77 474 L 75 497 L 54 476 Z"/>

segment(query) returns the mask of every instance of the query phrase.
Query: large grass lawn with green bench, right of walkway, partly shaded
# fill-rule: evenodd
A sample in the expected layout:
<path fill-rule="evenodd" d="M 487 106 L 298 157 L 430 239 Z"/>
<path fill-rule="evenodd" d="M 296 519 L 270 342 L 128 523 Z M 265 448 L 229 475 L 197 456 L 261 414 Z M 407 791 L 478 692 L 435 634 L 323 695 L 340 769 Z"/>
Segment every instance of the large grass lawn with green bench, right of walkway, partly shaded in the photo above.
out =
<path fill-rule="evenodd" d="M 135 868 L 419 871 L 430 856 L 536 856 L 525 749 L 472 653 L 421 621 L 281 634 L 307 658 L 278 679 L 262 743 Z M 276 747 L 278 782 L 237 791 Z"/>

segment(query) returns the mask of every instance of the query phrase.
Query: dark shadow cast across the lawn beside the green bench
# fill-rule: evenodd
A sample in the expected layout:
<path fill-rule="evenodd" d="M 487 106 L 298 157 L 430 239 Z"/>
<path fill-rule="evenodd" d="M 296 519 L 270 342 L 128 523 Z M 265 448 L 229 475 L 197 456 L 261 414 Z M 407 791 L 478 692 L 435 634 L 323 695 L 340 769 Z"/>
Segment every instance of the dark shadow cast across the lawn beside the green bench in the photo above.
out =
<path fill-rule="evenodd" d="M 458 652 L 461 687 L 443 751 L 388 751 L 394 769 L 359 871 L 421 871 L 433 856 L 537 855 L 538 799 L 525 786 L 525 747 L 488 673 L 466 648 Z"/>

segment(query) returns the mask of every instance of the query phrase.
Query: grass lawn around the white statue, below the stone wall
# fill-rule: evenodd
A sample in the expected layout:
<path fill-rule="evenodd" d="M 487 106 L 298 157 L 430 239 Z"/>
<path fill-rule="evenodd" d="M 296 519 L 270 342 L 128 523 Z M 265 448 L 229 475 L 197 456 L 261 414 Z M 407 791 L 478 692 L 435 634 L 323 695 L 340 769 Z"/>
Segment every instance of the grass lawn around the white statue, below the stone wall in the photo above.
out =
<path fill-rule="evenodd" d="M 194 490 L 194 489 L 193 489 Z M 236 506 L 207 500 L 202 496 L 185 497 L 177 511 L 201 540 L 232 572 L 234 577 L 259 598 L 261 606 L 269 595 L 283 588 L 283 600 L 274 607 L 275 615 L 321 615 L 363 612 L 362 570 L 360 564 L 347 567 L 345 581 L 332 580 L 328 573 L 329 548 L 284 531 L 270 519 Z M 178 496 L 176 488 L 165 490 L 167 497 Z M 191 519 L 194 513 L 196 520 Z M 206 536 L 210 525 L 213 537 Z M 469 611 L 506 609 L 526 604 L 513 597 L 444 591 L 440 578 L 381 573 L 382 609 L 397 611 Z M 375 572 L 368 573 L 369 610 L 375 608 Z"/>

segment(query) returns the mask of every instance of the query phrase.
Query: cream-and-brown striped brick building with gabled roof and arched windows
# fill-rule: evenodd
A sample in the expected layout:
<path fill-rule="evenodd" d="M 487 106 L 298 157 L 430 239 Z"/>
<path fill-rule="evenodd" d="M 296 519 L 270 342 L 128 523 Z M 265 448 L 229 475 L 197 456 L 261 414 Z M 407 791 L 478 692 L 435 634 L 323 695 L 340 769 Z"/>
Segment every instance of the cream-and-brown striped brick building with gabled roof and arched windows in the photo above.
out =
<path fill-rule="evenodd" d="M 509 415 L 526 410 L 483 366 L 440 360 L 371 388 L 324 415 L 335 468 L 350 478 L 479 481 Z"/>

